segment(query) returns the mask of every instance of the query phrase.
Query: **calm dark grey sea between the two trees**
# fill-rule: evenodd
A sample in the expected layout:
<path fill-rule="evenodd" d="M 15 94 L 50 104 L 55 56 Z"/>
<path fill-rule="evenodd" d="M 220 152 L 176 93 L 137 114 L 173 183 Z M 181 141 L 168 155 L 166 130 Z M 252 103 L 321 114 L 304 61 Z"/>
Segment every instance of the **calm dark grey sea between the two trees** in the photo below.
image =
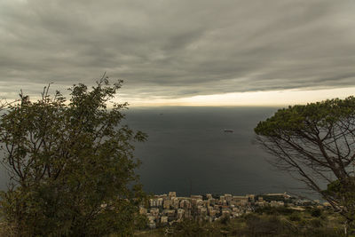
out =
<path fill-rule="evenodd" d="M 180 196 L 295 192 L 296 181 L 274 170 L 265 161 L 269 154 L 252 143 L 257 122 L 277 109 L 131 108 L 127 123 L 149 136 L 136 146 L 144 189 L 154 194 L 176 191 Z"/>

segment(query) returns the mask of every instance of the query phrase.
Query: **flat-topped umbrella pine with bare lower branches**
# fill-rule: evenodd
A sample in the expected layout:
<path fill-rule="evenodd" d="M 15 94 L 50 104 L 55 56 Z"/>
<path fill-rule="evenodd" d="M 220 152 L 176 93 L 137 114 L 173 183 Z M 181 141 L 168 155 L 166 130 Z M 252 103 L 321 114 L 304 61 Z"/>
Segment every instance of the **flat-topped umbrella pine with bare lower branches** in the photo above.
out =
<path fill-rule="evenodd" d="M 355 218 L 355 98 L 328 99 L 277 111 L 259 122 L 256 141 L 286 170 Z M 327 190 L 325 189 L 327 186 Z"/>

